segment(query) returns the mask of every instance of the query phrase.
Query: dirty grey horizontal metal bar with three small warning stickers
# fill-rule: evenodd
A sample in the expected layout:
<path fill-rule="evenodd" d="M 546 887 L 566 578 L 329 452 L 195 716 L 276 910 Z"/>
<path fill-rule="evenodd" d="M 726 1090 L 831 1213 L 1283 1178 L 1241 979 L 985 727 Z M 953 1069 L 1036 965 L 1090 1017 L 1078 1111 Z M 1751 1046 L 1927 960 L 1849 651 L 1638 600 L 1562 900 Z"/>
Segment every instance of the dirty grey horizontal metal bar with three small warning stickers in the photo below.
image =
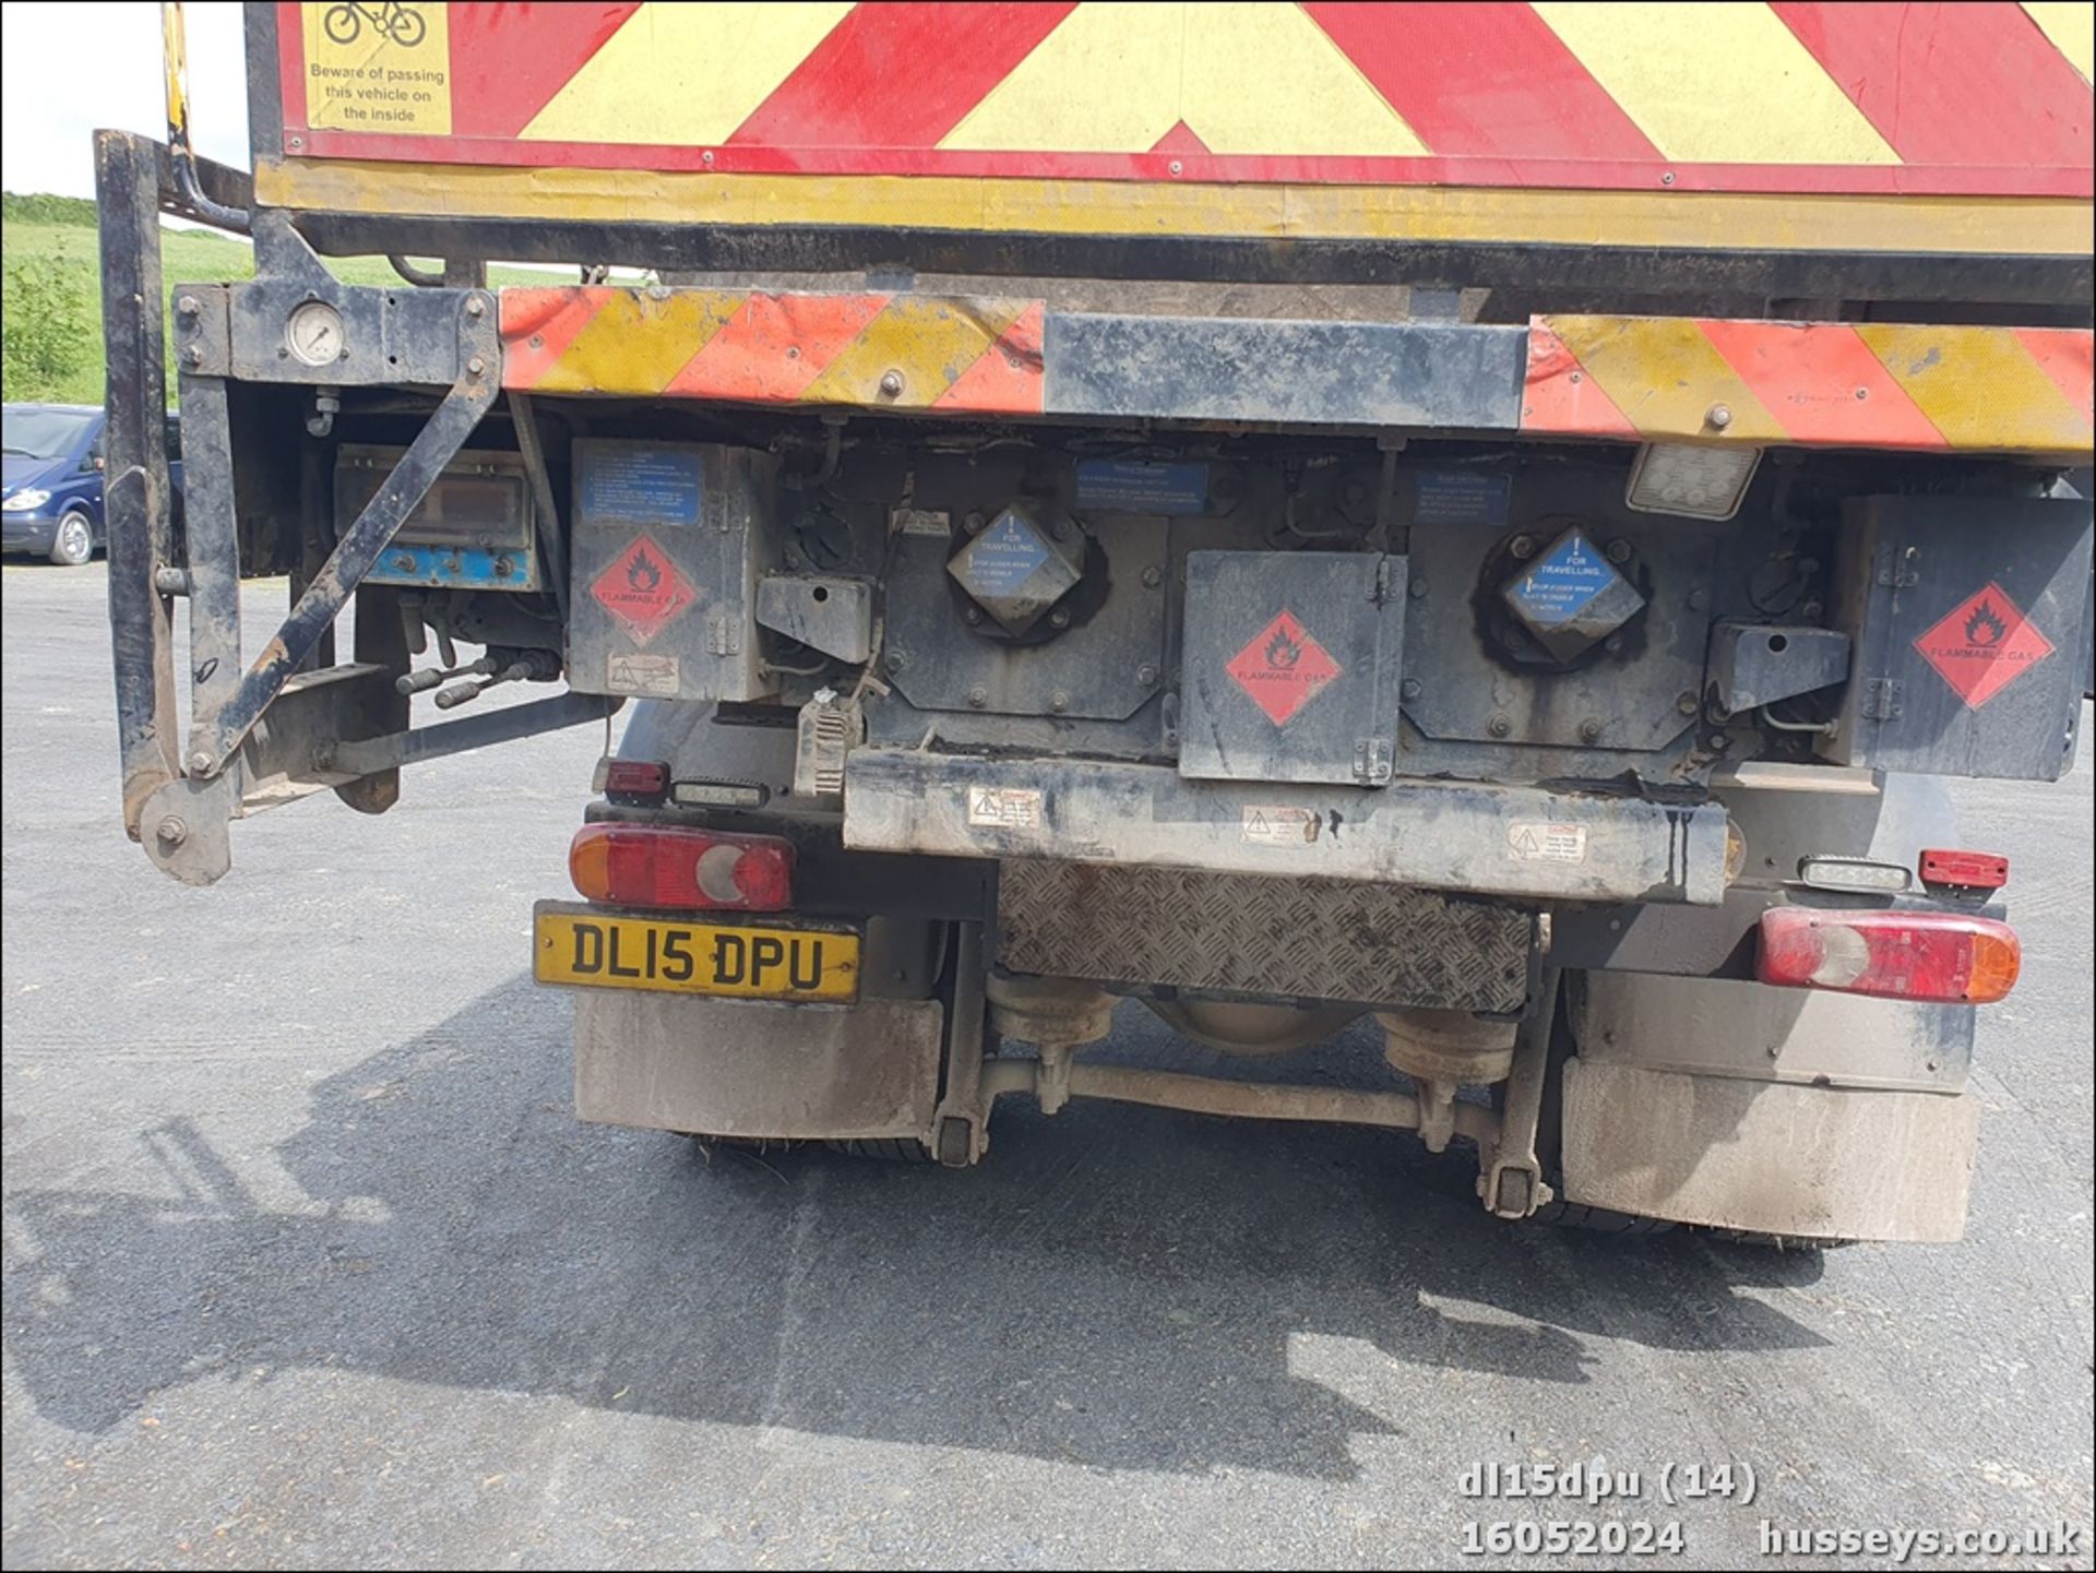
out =
<path fill-rule="evenodd" d="M 845 844 L 941 857 L 1375 880 L 1555 901 L 1725 899 L 1719 804 L 1467 781 L 1381 790 L 1184 781 L 1157 765 L 866 748 Z"/>

